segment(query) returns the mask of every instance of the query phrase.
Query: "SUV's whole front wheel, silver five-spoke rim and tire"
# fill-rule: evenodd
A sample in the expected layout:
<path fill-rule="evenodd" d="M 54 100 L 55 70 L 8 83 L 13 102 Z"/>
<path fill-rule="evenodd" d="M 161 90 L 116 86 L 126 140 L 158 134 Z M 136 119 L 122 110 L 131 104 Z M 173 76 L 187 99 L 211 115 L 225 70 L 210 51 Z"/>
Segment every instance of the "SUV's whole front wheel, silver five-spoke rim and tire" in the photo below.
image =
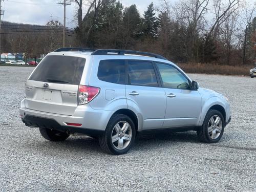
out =
<path fill-rule="evenodd" d="M 202 142 L 216 143 L 224 132 L 225 121 L 221 112 L 209 110 L 205 116 L 202 127 L 197 130 L 197 135 Z"/>

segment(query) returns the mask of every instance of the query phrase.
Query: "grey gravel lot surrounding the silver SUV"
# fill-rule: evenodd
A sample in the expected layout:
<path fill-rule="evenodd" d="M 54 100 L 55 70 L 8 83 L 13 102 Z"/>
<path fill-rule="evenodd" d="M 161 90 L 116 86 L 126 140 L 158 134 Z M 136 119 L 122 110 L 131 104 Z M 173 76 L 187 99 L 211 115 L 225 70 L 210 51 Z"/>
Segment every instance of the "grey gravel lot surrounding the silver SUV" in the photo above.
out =
<path fill-rule="evenodd" d="M 190 74 L 226 95 L 231 123 L 216 144 L 195 132 L 140 136 L 121 156 L 90 137 L 43 139 L 19 118 L 34 68 L 0 66 L 0 191 L 255 191 L 256 78 Z"/>

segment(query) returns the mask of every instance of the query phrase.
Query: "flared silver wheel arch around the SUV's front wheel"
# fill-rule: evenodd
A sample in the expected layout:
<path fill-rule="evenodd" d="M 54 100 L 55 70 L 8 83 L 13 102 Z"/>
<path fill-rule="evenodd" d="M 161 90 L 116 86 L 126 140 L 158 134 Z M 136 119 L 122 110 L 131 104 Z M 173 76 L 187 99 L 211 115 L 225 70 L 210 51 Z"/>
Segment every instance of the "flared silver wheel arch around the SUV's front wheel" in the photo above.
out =
<path fill-rule="evenodd" d="M 202 115 L 201 115 L 201 118 L 200 118 L 200 121 L 199 121 L 199 124 L 198 124 L 199 126 L 203 125 L 204 118 L 205 118 L 207 112 L 214 105 L 220 105 L 220 106 L 223 107 L 223 109 L 225 110 L 225 113 L 226 113 L 225 122 L 228 121 L 228 118 L 230 116 L 229 115 L 229 105 L 227 106 L 227 104 L 220 97 L 214 96 L 214 97 L 210 97 L 209 99 L 207 99 L 203 103 L 203 105 L 202 105 Z"/>

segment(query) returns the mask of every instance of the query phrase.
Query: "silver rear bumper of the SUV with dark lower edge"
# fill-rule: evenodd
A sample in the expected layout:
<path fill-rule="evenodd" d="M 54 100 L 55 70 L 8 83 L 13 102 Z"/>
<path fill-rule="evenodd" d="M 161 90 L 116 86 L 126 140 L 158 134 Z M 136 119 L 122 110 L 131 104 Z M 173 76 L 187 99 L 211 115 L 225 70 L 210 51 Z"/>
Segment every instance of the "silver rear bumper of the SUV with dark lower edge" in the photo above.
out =
<path fill-rule="evenodd" d="M 54 129 L 54 125 L 58 127 L 58 129 L 63 128 L 66 131 L 73 130 L 72 132 L 74 133 L 83 133 L 80 130 L 105 131 L 106 125 L 113 113 L 114 111 L 95 110 L 92 109 L 89 104 L 86 104 L 77 106 L 73 115 L 54 114 L 27 109 L 25 107 L 25 100 L 22 100 L 19 109 L 20 117 L 28 126 L 38 127 L 45 124 L 47 128 Z M 47 121 L 50 122 L 47 123 Z M 42 122 L 44 122 L 44 124 L 42 124 Z M 67 125 L 67 123 L 79 123 L 82 125 L 70 126 Z"/>

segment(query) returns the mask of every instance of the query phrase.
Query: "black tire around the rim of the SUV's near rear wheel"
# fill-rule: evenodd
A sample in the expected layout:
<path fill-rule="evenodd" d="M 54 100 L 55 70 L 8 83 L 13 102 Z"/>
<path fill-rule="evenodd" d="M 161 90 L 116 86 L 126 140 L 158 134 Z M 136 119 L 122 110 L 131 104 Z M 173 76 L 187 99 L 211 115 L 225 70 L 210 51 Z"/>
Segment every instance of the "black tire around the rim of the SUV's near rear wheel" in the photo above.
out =
<path fill-rule="evenodd" d="M 131 141 L 123 150 L 118 150 L 112 143 L 112 132 L 114 130 L 115 125 L 120 121 L 128 122 L 132 130 Z M 132 119 L 123 114 L 114 114 L 109 120 L 109 123 L 106 126 L 104 134 L 99 137 L 99 144 L 102 150 L 106 153 L 113 154 L 113 155 L 122 155 L 127 153 L 132 147 L 135 140 L 135 135 L 136 135 L 136 130 L 135 130 L 135 125 Z"/>

